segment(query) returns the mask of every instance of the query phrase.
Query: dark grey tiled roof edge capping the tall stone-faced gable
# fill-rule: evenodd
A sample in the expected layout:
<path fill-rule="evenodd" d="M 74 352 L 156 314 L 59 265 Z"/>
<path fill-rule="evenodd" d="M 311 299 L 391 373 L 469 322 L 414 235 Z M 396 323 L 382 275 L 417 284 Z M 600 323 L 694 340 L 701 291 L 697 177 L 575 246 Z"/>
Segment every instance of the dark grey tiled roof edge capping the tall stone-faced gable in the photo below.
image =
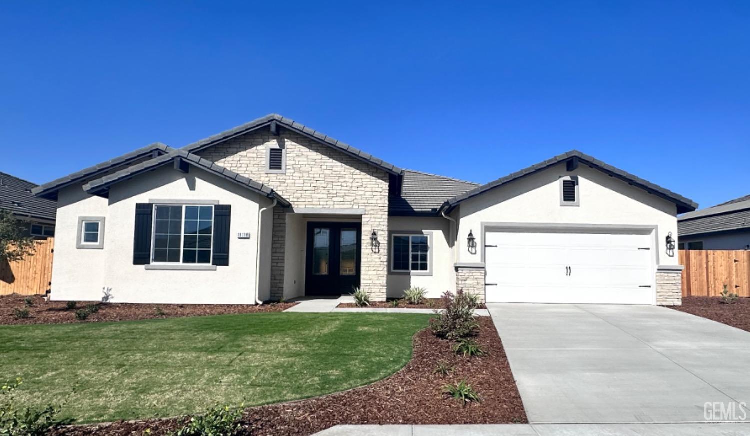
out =
<path fill-rule="evenodd" d="M 272 126 L 272 124 L 274 125 Z M 354 148 L 351 145 L 338 141 L 337 139 L 334 139 L 331 136 L 326 135 L 325 133 L 313 130 L 310 127 L 305 126 L 304 124 L 300 124 L 293 119 L 283 117 L 278 114 L 266 115 L 265 117 L 242 124 L 242 126 L 224 130 L 223 132 L 217 133 L 214 136 L 209 136 L 206 139 L 201 139 L 198 142 L 193 142 L 190 145 L 186 145 L 183 147 L 183 150 L 190 151 L 191 153 L 196 153 L 197 151 L 205 150 L 205 148 L 216 145 L 219 142 L 224 142 L 229 139 L 236 138 L 237 136 L 245 135 L 245 133 L 251 132 L 253 130 L 258 130 L 263 127 L 278 126 L 292 130 L 293 132 L 299 133 L 302 136 L 307 136 L 308 138 L 314 139 L 321 144 L 329 145 L 329 147 L 335 148 L 338 151 L 356 157 L 359 160 L 363 160 L 373 166 L 377 166 L 378 168 L 383 169 L 391 174 L 400 175 L 403 172 L 403 170 L 398 168 L 398 166 L 387 163 L 386 161 L 378 159 L 371 154 L 365 153 L 358 148 Z"/>

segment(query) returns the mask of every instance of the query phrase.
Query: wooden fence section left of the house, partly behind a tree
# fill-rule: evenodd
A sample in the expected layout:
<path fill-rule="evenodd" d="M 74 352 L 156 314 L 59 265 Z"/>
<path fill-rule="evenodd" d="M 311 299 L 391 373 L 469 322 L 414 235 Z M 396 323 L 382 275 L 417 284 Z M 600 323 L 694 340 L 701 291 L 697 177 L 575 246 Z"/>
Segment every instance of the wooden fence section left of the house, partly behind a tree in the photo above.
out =
<path fill-rule="evenodd" d="M 0 260 L 0 295 L 44 294 L 52 284 L 55 238 L 37 240 L 37 250 L 23 261 Z"/>

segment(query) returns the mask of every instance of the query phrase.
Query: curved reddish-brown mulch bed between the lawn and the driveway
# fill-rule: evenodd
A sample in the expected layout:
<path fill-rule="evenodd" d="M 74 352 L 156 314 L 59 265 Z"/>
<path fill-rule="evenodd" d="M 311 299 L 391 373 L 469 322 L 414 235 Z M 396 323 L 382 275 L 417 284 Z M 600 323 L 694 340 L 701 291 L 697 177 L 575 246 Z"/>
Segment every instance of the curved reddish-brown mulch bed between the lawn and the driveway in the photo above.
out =
<path fill-rule="evenodd" d="M 414 336 L 414 354 L 404 369 L 364 387 L 296 402 L 248 408 L 242 419 L 246 435 L 312 435 L 337 424 L 489 424 L 526 423 L 505 350 L 489 317 L 479 318 L 475 338 L 487 355 L 458 357 L 452 342 L 438 339 L 429 329 Z M 439 361 L 454 369 L 435 372 Z M 466 379 L 481 402 L 463 405 L 442 392 L 444 384 Z M 184 417 L 72 426 L 55 435 L 151 435 L 172 431 Z"/>

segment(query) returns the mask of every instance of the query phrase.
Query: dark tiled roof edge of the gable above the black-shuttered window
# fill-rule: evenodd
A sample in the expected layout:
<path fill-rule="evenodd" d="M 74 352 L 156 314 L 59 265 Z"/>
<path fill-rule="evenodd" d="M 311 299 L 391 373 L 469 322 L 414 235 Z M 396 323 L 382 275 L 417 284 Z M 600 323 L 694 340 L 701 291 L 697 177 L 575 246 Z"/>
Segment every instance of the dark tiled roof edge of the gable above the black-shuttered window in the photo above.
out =
<path fill-rule="evenodd" d="M 192 154 L 182 149 L 172 150 L 168 154 L 163 154 L 160 157 L 155 157 L 154 159 L 146 160 L 142 163 L 137 163 L 136 165 L 121 169 L 120 171 L 114 172 L 113 174 L 105 175 L 103 178 L 98 178 L 96 180 L 90 181 L 89 183 L 83 185 L 83 190 L 85 190 L 87 193 L 97 196 L 107 196 L 110 187 L 113 184 L 117 184 L 121 181 L 126 181 L 143 172 L 157 169 L 160 166 L 175 165 L 175 168 L 180 166 L 182 169 L 185 169 L 184 167 L 182 167 L 183 164 L 192 165 L 196 168 L 211 172 L 214 175 L 217 175 L 235 184 L 239 184 L 240 186 L 248 188 L 249 190 L 254 191 L 255 193 L 258 193 L 262 196 L 269 197 L 270 199 L 276 199 L 282 206 L 290 205 L 290 202 L 288 202 L 287 199 L 284 199 L 284 197 L 279 195 L 270 187 L 267 187 L 266 185 L 261 184 L 257 181 L 251 180 L 244 175 L 239 175 L 236 172 L 230 171 L 229 169 L 217 165 L 210 160 L 199 157 L 197 154 Z"/>

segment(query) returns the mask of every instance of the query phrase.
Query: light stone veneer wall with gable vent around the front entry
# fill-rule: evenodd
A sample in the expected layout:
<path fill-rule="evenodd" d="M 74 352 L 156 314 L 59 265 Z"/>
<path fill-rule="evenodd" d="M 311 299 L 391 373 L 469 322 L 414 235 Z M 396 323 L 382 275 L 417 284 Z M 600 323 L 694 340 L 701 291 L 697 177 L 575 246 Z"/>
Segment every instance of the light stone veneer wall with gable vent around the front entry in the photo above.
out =
<path fill-rule="evenodd" d="M 266 174 L 266 149 L 287 149 L 285 174 Z M 293 208 L 364 208 L 362 215 L 362 288 L 375 301 L 386 300 L 388 274 L 389 174 L 329 145 L 281 129 L 280 136 L 257 130 L 199 152 L 201 157 L 267 184 Z M 286 219 L 274 211 L 271 296 L 284 296 Z M 370 234 L 380 235 L 380 250 L 370 248 Z M 304 266 L 303 266 L 304 267 Z"/>

